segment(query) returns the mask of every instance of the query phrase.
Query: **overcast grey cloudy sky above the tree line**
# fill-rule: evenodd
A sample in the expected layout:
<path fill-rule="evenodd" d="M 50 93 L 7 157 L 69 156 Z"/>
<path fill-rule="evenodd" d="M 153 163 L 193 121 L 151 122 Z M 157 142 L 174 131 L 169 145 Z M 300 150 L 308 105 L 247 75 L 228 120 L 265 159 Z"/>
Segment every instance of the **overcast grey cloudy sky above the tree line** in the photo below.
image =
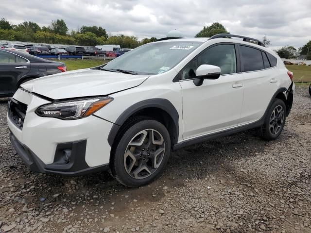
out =
<path fill-rule="evenodd" d="M 64 19 L 69 30 L 102 26 L 138 39 L 176 29 L 194 37 L 213 22 L 232 34 L 271 40 L 273 47 L 301 47 L 311 40 L 311 0 L 1 0 L 0 17 L 48 26 Z"/>

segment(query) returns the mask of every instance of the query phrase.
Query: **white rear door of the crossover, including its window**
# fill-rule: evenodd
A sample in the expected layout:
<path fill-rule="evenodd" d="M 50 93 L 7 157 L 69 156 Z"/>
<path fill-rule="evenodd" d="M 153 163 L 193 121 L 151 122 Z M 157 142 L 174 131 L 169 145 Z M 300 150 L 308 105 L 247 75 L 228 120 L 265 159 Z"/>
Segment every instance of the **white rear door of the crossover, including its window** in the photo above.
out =
<path fill-rule="evenodd" d="M 276 61 L 268 59 L 264 50 L 239 45 L 244 78 L 241 124 L 259 120 L 279 86 Z M 272 55 L 271 55 L 272 56 Z M 276 60 L 276 58 L 275 58 Z"/>

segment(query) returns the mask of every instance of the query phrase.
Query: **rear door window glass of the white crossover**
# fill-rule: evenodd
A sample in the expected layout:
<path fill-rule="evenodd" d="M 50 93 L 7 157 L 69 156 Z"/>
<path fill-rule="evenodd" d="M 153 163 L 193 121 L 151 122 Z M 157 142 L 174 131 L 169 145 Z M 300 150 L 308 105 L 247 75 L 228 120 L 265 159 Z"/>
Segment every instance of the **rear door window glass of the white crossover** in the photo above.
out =
<path fill-rule="evenodd" d="M 248 46 L 240 45 L 242 67 L 244 72 L 263 69 L 261 51 Z"/>

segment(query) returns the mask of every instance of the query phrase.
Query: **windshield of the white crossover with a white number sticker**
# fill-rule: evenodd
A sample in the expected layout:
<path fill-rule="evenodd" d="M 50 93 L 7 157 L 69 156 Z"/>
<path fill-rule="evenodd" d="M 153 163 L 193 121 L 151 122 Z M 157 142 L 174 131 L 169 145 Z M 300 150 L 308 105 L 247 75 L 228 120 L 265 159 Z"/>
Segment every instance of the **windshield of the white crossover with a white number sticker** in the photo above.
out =
<path fill-rule="evenodd" d="M 122 69 L 138 74 L 161 74 L 176 66 L 203 42 L 168 41 L 151 43 L 125 53 L 104 69 Z"/>

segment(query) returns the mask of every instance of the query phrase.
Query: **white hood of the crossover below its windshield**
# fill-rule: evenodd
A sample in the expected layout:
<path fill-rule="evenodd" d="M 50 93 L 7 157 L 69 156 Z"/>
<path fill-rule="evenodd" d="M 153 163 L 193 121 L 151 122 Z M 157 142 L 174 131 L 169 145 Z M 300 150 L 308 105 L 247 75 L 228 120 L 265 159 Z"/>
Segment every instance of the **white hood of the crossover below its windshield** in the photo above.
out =
<path fill-rule="evenodd" d="M 37 78 L 22 88 L 53 100 L 109 95 L 143 83 L 149 75 L 80 69 Z"/>

